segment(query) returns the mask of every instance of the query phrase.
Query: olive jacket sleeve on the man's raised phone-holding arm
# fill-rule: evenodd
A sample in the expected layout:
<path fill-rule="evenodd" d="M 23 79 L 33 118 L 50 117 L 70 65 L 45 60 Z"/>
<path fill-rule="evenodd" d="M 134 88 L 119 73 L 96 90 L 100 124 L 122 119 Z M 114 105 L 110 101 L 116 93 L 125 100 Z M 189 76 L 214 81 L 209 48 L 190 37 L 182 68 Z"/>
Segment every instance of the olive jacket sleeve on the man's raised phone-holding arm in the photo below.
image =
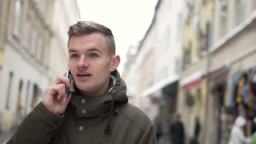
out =
<path fill-rule="evenodd" d="M 21 122 L 6 144 L 48 144 L 63 116 L 50 112 L 40 102 Z"/>

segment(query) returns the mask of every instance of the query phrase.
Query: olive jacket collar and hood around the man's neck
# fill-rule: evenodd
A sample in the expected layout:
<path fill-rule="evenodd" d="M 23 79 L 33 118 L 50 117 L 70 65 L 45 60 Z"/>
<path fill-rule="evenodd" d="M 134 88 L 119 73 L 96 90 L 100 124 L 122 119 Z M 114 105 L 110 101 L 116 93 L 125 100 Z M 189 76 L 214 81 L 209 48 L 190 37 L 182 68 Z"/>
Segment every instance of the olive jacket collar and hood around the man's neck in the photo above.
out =
<path fill-rule="evenodd" d="M 93 117 L 108 112 L 111 107 L 112 112 L 118 112 L 118 103 L 128 102 L 126 95 L 126 85 L 121 79 L 117 70 L 111 73 L 111 83 L 109 91 L 99 96 L 84 96 L 77 91 L 72 93 L 72 99 L 69 105 L 76 109 L 77 117 Z M 81 100 L 86 99 L 85 104 L 81 104 Z M 113 103 L 113 104 L 112 104 Z M 86 115 L 81 114 L 81 110 L 86 109 Z"/>

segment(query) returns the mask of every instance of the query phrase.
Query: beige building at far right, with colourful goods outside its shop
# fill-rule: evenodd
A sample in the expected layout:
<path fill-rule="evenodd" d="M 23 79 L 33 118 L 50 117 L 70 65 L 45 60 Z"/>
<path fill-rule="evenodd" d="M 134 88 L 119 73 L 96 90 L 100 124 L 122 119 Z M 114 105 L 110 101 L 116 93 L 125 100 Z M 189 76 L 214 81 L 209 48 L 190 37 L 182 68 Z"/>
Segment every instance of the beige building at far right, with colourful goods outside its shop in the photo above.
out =
<path fill-rule="evenodd" d="M 252 123 L 256 116 L 253 93 L 253 74 L 256 72 L 256 1 L 215 1 L 213 46 L 210 48 L 209 103 L 207 144 L 227 144 L 237 115 Z M 241 83 L 242 82 L 242 83 Z M 250 85 L 243 93 L 243 104 L 237 101 L 236 86 Z M 246 91 L 245 88 L 242 88 Z M 242 106 L 242 107 L 240 107 Z M 251 111 L 251 112 L 248 112 Z M 250 134 L 248 126 L 245 134 Z M 206 140 L 205 139 L 205 140 Z"/>

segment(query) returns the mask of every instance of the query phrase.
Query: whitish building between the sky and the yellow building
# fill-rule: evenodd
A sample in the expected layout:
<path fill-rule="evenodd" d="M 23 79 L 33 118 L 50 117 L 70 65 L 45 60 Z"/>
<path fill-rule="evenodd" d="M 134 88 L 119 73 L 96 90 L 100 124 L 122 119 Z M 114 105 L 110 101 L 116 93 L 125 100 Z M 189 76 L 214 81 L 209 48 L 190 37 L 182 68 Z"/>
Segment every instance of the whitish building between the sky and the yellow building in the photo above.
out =
<path fill-rule="evenodd" d="M 135 105 L 150 119 L 160 119 L 166 136 L 171 115 L 176 111 L 183 6 L 182 0 L 157 2 L 152 23 L 141 40 L 136 55 L 130 58 L 134 62 L 125 65 L 127 70 L 124 70 L 124 77 L 127 77 L 125 82 L 133 81 L 132 99 L 136 99 Z M 128 59 L 129 61 L 131 60 Z M 131 70 L 133 75 L 130 75 Z"/>

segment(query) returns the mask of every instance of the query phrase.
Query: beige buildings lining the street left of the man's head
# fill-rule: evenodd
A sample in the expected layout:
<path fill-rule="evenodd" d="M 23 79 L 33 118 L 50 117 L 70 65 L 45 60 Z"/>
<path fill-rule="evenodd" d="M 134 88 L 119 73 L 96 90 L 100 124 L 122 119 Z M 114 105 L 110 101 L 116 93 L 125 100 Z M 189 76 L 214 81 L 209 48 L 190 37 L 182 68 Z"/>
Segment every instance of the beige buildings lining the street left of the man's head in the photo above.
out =
<path fill-rule="evenodd" d="M 68 0 L 1 0 L 0 3 L 0 55 L 3 56 L 0 57 L 3 64 L 0 123 L 1 129 L 8 131 L 42 100 L 45 88 L 52 82 L 51 63 L 56 61 L 56 57 L 51 56 L 52 50 L 67 43 L 67 37 L 60 37 L 56 40 L 59 47 L 51 45 L 56 33 L 64 31 L 56 25 L 60 21 L 67 25 L 75 23 L 80 13 L 77 3 Z M 56 20 L 59 11 L 54 10 L 59 7 L 58 3 L 64 3 L 59 11 L 68 12 L 67 19 Z M 59 56 L 61 51 L 55 54 Z M 67 64 L 67 57 L 57 58 Z M 57 65 L 62 65 L 61 62 Z"/>

